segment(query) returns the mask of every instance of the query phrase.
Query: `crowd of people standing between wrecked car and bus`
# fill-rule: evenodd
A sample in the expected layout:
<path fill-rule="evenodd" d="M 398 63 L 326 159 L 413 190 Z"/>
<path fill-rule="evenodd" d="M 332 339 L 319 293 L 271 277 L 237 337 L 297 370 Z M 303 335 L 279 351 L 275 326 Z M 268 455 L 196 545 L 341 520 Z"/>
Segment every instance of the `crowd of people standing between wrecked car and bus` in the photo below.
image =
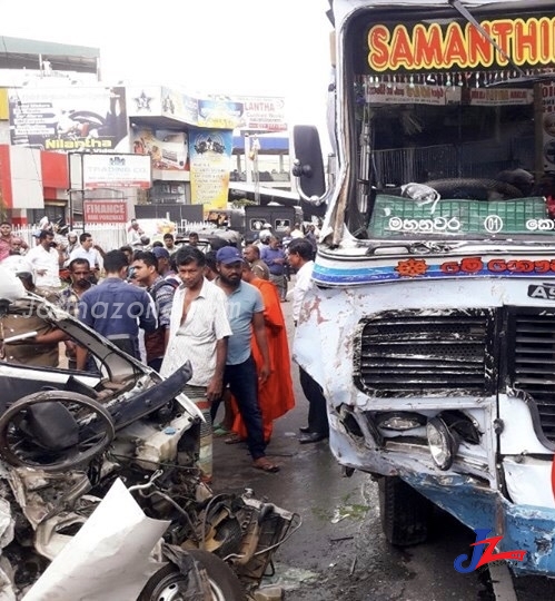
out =
<path fill-rule="evenodd" d="M 298 231 L 297 231 L 298 230 Z M 299 235 L 300 233 L 300 235 Z M 13 270 L 27 290 L 77 317 L 112 344 L 162 376 L 184 368 L 192 376 L 185 393 L 205 416 L 198 467 L 212 479 L 212 436 L 244 441 L 254 467 L 276 473 L 280 466 L 266 454 L 272 424 L 295 406 L 287 324 L 283 303 L 293 300 L 299 318 L 310 282 L 314 240 L 299 227 L 284 238 L 260 236 L 245 248 L 216 245 L 202 252 L 191 233 L 177 246 L 171 234 L 150 244 L 132 220 L 128 243 L 106 252 L 88 233 L 67 234 L 67 244 L 43 227 L 29 247 L 0 224 L 0 265 Z M 67 269 L 62 282 L 60 270 Z M 288 294 L 288 283 L 296 283 Z M 88 351 L 46 323 L 2 317 L 6 338 L 31 328 L 33 337 L 4 344 L 4 358 L 57 367 L 60 344 L 70 370 L 98 371 Z M 37 318 L 39 319 L 39 318 Z M 40 321 L 40 319 L 39 319 Z M 309 401 L 301 443 L 327 437 L 321 388 L 300 370 Z M 224 414 L 215 423 L 218 410 Z"/>

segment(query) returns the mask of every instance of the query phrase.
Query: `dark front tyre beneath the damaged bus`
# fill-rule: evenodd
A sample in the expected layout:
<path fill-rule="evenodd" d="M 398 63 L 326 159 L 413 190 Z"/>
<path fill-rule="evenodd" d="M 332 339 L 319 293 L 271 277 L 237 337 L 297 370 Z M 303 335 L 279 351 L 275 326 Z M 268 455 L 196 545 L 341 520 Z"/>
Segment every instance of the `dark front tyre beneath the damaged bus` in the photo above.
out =
<path fill-rule="evenodd" d="M 427 540 L 433 503 L 398 476 L 378 480 L 381 529 L 388 543 L 409 546 Z"/>

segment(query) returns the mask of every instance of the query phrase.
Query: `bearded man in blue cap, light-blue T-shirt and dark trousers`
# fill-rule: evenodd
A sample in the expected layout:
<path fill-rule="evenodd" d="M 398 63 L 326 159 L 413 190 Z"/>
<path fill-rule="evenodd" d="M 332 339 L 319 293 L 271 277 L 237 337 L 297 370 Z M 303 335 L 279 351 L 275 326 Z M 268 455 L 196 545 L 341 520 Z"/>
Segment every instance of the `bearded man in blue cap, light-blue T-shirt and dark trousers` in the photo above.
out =
<path fill-rule="evenodd" d="M 247 428 L 247 445 L 254 460 L 254 466 L 264 472 L 278 472 L 265 453 L 262 416 L 258 404 L 258 385 L 264 385 L 270 374 L 270 356 L 264 322 L 264 302 L 260 292 L 242 282 L 244 258 L 232 246 L 225 246 L 216 254 L 219 277 L 215 283 L 227 295 L 227 309 L 232 335 L 227 349 L 224 387 L 229 385 L 237 401 L 239 412 Z M 262 357 L 257 374 L 251 353 L 251 336 Z M 212 421 L 218 406 L 211 407 Z"/>

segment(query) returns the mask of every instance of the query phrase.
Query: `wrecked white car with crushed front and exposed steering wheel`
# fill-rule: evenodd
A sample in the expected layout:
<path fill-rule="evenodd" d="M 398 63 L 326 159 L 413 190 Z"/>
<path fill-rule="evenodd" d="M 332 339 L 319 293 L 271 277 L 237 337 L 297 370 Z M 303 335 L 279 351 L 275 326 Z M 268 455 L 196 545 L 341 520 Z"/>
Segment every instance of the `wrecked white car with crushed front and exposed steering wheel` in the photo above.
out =
<path fill-rule="evenodd" d="M 61 328 L 99 372 L 0 359 L 0 600 L 245 599 L 298 516 L 201 482 L 188 366 L 163 380 L 13 282 L 0 352 L 10 315 Z"/>

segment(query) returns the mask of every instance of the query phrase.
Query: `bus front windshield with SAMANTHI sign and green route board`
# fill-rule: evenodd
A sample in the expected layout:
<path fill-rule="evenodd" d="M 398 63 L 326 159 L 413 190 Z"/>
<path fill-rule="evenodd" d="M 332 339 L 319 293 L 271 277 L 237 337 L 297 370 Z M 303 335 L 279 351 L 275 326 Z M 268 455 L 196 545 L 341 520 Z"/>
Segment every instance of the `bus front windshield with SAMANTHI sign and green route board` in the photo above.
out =
<path fill-rule="evenodd" d="M 553 242 L 555 72 L 542 49 L 555 17 L 476 11 L 484 36 L 454 9 L 398 14 L 360 11 L 346 30 L 349 229 Z"/>

